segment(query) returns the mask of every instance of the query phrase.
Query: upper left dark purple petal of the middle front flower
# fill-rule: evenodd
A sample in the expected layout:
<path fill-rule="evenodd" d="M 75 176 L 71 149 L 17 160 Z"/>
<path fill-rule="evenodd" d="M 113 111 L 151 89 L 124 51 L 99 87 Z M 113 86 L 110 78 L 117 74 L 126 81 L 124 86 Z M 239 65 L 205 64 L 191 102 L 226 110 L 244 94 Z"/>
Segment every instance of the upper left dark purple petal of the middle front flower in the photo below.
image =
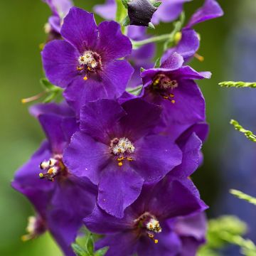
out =
<path fill-rule="evenodd" d="M 102 143 L 110 142 L 112 131 L 126 112 L 115 100 L 96 100 L 82 107 L 80 129 Z"/>

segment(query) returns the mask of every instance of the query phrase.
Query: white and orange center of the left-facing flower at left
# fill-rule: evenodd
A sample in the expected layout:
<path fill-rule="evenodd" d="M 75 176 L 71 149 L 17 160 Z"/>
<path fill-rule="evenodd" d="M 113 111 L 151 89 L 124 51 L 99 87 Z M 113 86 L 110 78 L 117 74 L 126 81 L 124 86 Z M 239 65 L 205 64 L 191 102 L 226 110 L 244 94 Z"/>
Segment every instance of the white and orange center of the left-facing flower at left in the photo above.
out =
<path fill-rule="evenodd" d="M 55 155 L 48 161 L 42 161 L 40 164 L 40 169 L 43 171 L 39 174 L 39 177 L 47 178 L 48 181 L 54 181 L 55 176 L 65 176 L 68 174 L 68 171 L 63 164 L 61 155 Z"/>

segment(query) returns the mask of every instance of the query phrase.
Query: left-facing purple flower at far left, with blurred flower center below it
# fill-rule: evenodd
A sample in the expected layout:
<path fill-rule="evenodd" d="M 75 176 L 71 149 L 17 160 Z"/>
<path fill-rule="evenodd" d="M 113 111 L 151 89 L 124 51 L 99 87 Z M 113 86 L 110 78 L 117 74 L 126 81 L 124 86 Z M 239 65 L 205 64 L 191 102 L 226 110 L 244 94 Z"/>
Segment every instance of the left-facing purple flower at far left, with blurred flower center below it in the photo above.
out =
<path fill-rule="evenodd" d="M 82 218 L 92 211 L 97 192 L 90 181 L 70 174 L 63 164 L 63 149 L 78 130 L 78 124 L 67 105 L 37 105 L 31 112 L 41 123 L 47 140 L 18 169 L 12 182 L 37 212 L 37 217 L 31 218 L 30 234 L 25 239 L 48 229 L 65 255 L 75 255 L 70 244 L 78 235 Z"/>

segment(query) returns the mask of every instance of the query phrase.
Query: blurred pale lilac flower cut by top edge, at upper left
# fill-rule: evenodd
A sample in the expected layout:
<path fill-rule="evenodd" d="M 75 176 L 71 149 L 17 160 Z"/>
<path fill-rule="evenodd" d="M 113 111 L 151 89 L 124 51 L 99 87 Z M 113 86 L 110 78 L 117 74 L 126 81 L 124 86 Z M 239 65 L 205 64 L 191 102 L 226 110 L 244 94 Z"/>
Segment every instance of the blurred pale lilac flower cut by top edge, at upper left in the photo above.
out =
<path fill-rule="evenodd" d="M 52 11 L 52 16 L 48 19 L 46 24 L 46 32 L 55 33 L 55 36 L 60 36 L 60 28 L 63 23 L 63 18 L 68 14 L 68 11 L 73 6 L 71 0 L 43 0 Z M 49 26 L 49 28 L 47 27 Z"/>

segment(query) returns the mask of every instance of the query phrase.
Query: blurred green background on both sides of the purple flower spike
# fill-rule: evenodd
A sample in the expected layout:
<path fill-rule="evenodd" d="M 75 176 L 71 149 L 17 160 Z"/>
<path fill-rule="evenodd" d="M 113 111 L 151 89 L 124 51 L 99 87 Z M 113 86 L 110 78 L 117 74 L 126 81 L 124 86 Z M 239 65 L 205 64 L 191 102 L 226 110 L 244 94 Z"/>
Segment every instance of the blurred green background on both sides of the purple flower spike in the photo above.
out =
<path fill-rule="evenodd" d="M 255 7 L 254 0 L 242 1 L 251 2 Z M 94 4 L 102 2 L 77 0 L 75 4 L 92 11 Z M 186 4 L 186 15 L 190 16 L 202 3 L 194 0 Z M 206 97 L 210 137 L 203 148 L 204 166 L 193 176 L 202 198 L 212 207 L 221 188 L 219 149 L 225 132 L 232 129 L 228 124 L 231 117 L 225 102 L 228 90 L 221 89 L 218 82 L 230 79 L 225 42 L 239 22 L 241 0 L 219 0 L 219 3 L 225 16 L 196 26 L 202 38 L 199 54 L 205 60 L 203 63 L 193 60 L 192 63 L 196 70 L 213 73 L 212 79 L 200 82 Z M 26 233 L 27 218 L 33 214 L 33 209 L 26 198 L 10 186 L 18 166 L 30 157 L 43 139 L 36 119 L 28 114 L 28 105 L 22 105 L 21 98 L 41 92 L 39 79 L 43 77 L 43 71 L 38 46 L 46 39 L 43 25 L 49 15 L 48 6 L 40 0 L 0 1 L 0 255 L 61 255 L 48 234 L 37 240 L 21 242 L 21 235 Z M 155 32 L 166 33 L 171 29 L 170 24 L 161 24 Z"/>

